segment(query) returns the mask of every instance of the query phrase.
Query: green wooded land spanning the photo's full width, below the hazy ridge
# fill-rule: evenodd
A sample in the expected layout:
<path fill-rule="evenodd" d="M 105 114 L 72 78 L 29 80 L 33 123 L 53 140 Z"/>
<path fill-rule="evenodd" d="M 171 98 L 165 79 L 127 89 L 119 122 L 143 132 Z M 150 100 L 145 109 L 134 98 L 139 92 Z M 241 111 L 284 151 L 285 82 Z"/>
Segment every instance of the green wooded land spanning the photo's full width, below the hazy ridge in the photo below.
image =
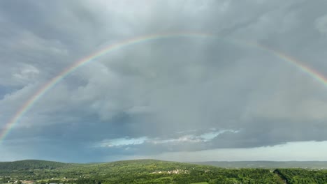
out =
<path fill-rule="evenodd" d="M 0 183 L 327 183 L 327 170 L 224 169 L 213 166 L 128 160 L 66 164 L 41 160 L 0 162 Z"/>

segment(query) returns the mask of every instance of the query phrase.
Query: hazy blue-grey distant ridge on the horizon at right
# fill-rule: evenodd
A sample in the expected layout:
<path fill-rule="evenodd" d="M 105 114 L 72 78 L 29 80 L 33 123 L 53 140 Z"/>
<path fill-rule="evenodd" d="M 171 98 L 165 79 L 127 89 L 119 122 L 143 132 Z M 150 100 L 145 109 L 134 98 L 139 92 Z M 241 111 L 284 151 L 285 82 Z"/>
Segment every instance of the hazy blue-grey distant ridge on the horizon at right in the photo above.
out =
<path fill-rule="evenodd" d="M 211 165 L 224 168 L 307 168 L 327 169 L 327 161 L 210 161 L 210 162 L 187 162 L 191 164 Z"/>

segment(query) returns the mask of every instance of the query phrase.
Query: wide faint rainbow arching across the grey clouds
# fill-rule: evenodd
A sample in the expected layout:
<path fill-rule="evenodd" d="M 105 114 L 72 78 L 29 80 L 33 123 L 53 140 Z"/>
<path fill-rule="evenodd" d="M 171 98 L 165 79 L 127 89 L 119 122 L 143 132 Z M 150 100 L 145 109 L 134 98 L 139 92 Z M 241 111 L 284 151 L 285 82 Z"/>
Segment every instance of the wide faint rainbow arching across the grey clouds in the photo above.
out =
<path fill-rule="evenodd" d="M 309 75 L 313 79 L 317 80 L 319 83 L 324 84 L 324 86 L 327 86 L 327 79 L 324 77 L 324 75 L 321 75 L 317 70 L 314 70 L 310 68 L 309 66 L 305 66 L 304 63 L 301 63 L 300 61 L 297 61 L 296 59 L 293 59 L 291 56 L 288 56 L 282 52 L 279 52 L 275 49 L 272 49 L 270 47 L 266 47 L 264 45 L 260 45 L 259 43 L 255 42 L 249 42 L 249 41 L 240 41 L 235 40 L 231 38 L 219 38 L 218 36 L 215 36 L 210 33 L 159 33 L 159 34 L 152 34 L 147 36 L 140 36 L 136 38 L 131 38 L 127 40 L 123 40 L 122 42 L 118 42 L 112 45 L 109 45 L 108 47 L 104 47 L 103 49 L 100 49 L 98 52 L 95 52 L 94 54 L 91 54 L 83 59 L 80 59 L 79 61 L 76 61 L 68 68 L 62 70 L 56 77 L 53 77 L 49 82 L 44 84 L 34 95 L 29 98 L 26 102 L 24 102 L 24 105 L 20 107 L 20 109 L 15 113 L 15 115 L 10 118 L 10 121 L 6 123 L 6 125 L 2 128 L 2 131 L 0 132 L 0 144 L 3 141 L 3 139 L 6 138 L 6 136 L 10 133 L 10 130 L 13 130 L 15 125 L 20 122 L 20 119 L 24 114 L 26 114 L 31 107 L 34 106 L 34 104 L 40 100 L 40 98 L 45 95 L 50 89 L 52 89 L 56 84 L 61 82 L 65 77 L 70 75 L 75 70 L 78 70 L 78 68 L 87 65 L 87 63 L 90 63 L 92 61 L 96 61 L 96 59 L 99 59 L 101 56 L 104 56 L 108 54 L 109 52 L 113 52 L 117 49 L 122 49 L 123 47 L 127 47 L 130 45 L 136 45 L 138 43 L 145 43 L 149 42 L 151 40 L 161 40 L 165 38 L 191 38 L 191 37 L 197 37 L 197 38 L 216 38 L 219 40 L 228 40 L 228 42 L 231 43 L 237 43 L 240 45 L 247 45 L 250 47 L 256 47 L 258 49 L 261 49 L 263 51 L 269 52 L 270 54 L 273 54 L 277 56 L 279 59 L 282 59 L 286 61 L 287 63 L 291 63 L 291 65 L 295 66 L 305 74 Z"/>

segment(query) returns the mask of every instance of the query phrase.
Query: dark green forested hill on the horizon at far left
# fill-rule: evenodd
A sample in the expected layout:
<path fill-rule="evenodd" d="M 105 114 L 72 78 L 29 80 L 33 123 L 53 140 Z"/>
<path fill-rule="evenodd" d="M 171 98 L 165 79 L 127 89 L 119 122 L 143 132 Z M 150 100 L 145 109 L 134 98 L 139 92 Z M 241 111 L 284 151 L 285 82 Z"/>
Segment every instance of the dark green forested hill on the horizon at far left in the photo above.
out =
<path fill-rule="evenodd" d="M 75 164 L 52 162 L 45 160 L 20 160 L 14 162 L 0 162 L 0 170 L 23 170 L 23 169 L 57 169 L 69 167 Z"/>

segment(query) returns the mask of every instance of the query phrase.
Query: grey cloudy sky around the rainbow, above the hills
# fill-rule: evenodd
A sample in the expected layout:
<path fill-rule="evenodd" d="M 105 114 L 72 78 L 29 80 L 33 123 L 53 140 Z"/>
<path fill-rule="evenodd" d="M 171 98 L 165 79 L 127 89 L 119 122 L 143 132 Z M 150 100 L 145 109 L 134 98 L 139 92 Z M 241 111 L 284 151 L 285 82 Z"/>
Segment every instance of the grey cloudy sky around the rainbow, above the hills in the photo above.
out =
<path fill-rule="evenodd" d="M 327 77 L 326 8 L 0 1 L 0 161 L 327 160 L 327 82 L 315 78 Z M 117 43 L 8 126 L 51 79 Z"/>

